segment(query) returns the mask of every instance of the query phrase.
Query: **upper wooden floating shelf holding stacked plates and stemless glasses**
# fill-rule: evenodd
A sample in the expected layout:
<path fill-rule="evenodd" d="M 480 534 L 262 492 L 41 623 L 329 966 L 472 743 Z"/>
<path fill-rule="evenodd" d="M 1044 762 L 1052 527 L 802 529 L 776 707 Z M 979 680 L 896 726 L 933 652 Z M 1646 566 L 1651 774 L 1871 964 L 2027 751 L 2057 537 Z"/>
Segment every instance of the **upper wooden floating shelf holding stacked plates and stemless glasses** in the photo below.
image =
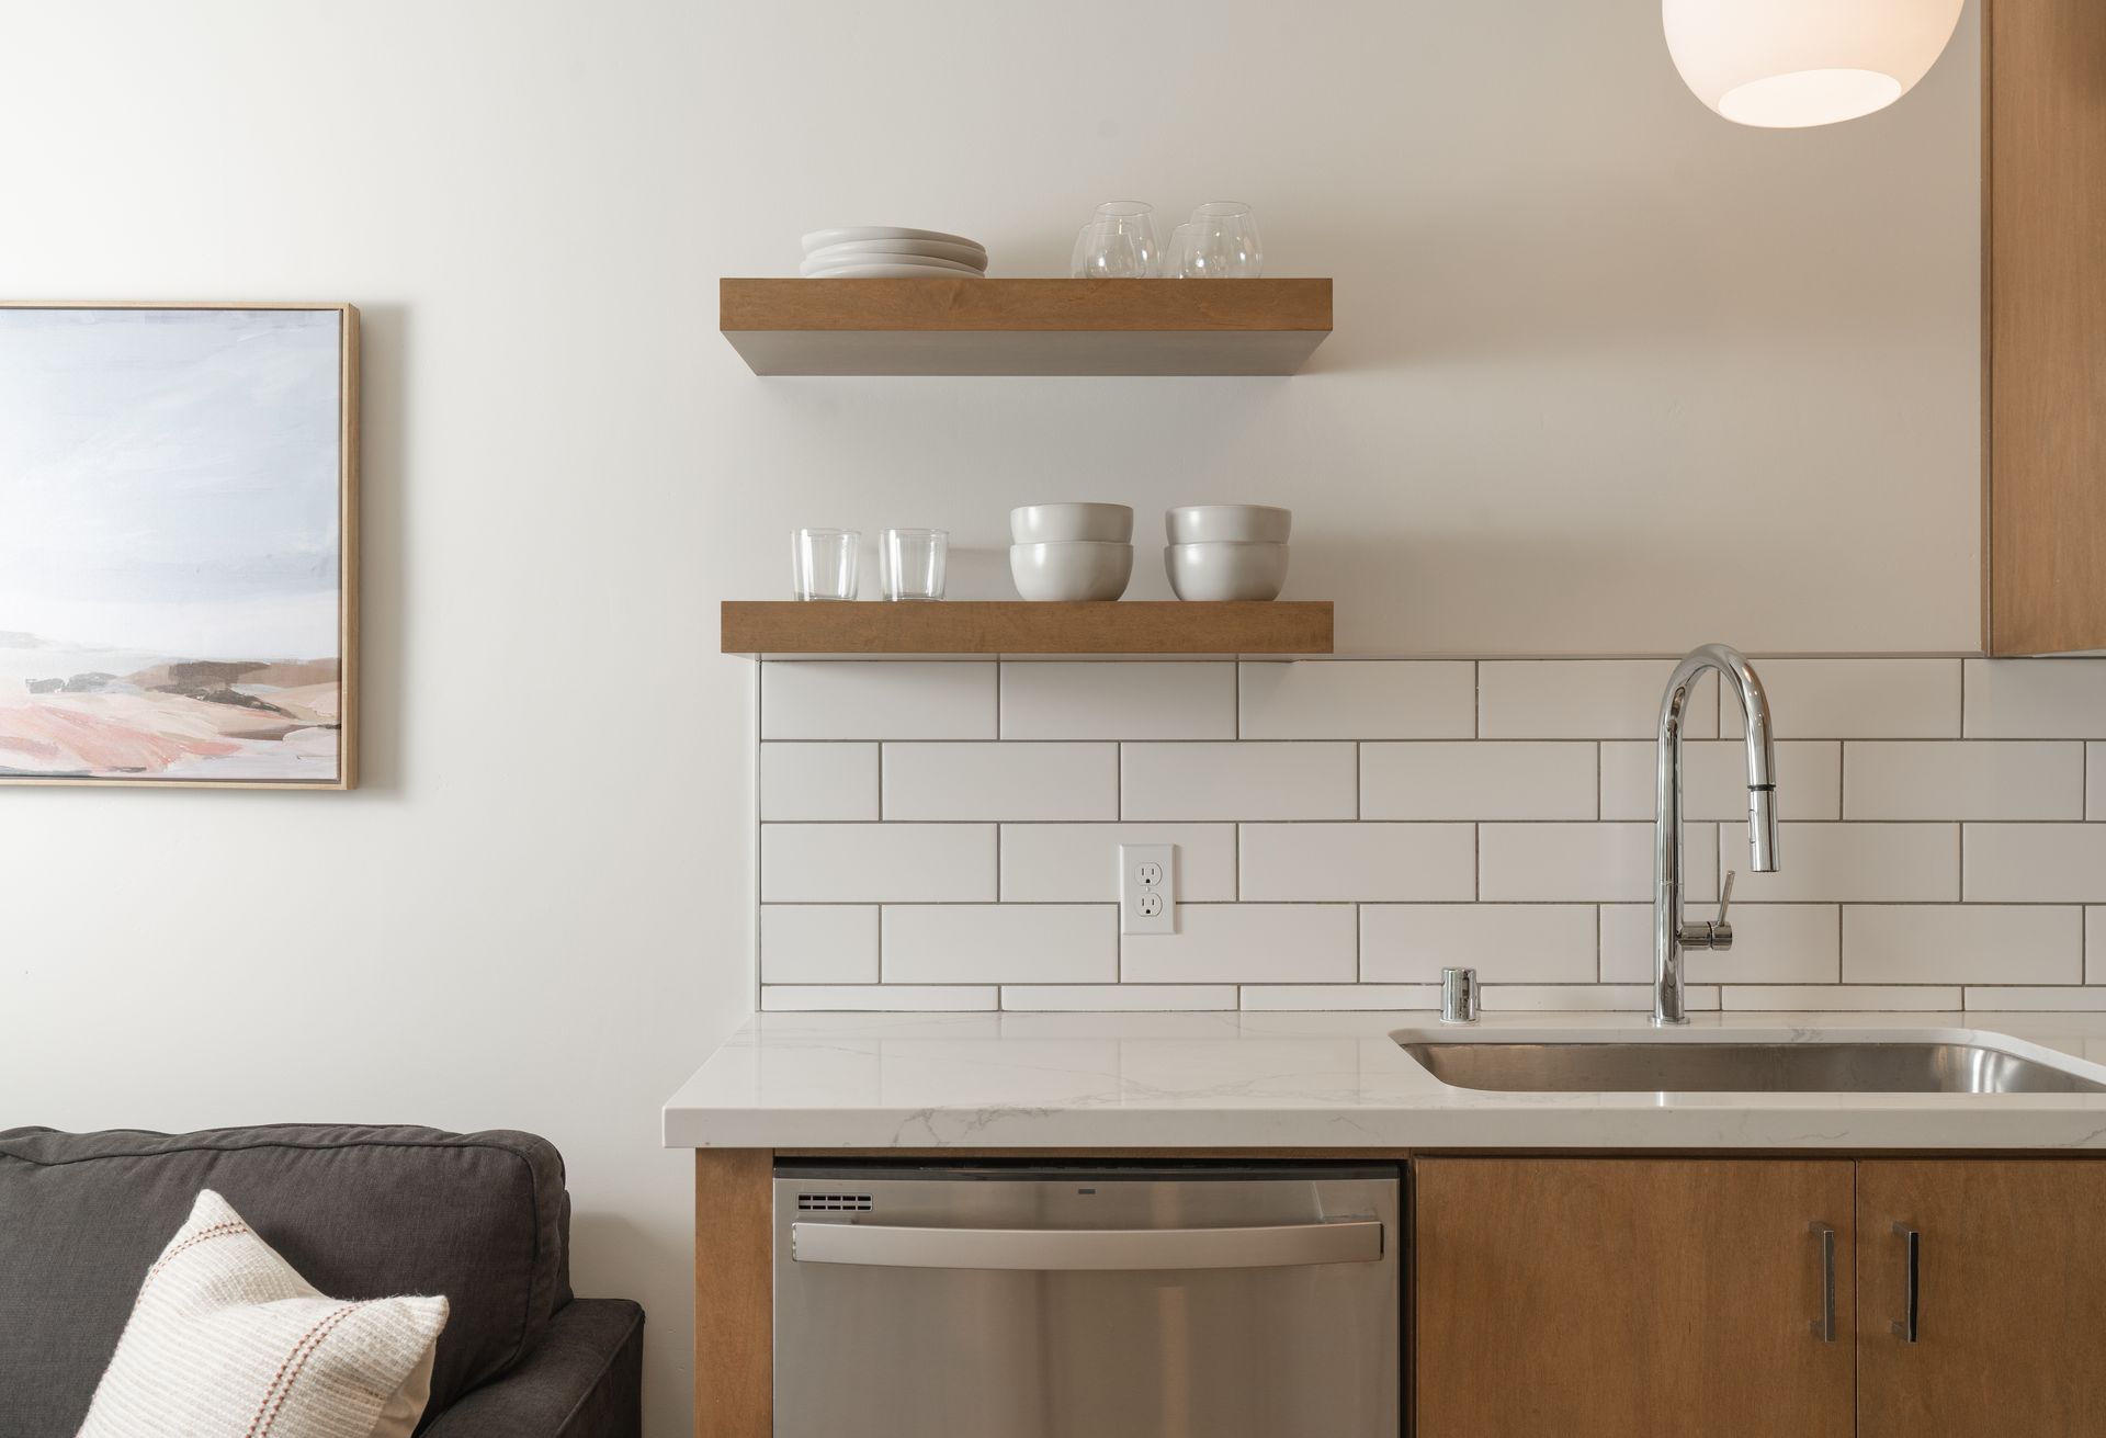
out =
<path fill-rule="evenodd" d="M 756 375 L 1293 375 L 1331 280 L 720 280 Z"/>

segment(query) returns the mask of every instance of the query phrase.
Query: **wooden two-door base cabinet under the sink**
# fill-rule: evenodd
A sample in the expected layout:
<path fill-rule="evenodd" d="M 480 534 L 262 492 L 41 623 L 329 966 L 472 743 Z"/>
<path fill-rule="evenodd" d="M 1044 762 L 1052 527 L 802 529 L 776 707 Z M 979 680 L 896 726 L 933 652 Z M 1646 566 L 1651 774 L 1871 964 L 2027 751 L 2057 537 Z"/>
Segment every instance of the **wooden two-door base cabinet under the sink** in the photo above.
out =
<path fill-rule="evenodd" d="M 1419 1438 L 2106 1432 L 2095 1158 L 1422 1158 L 1413 1190 Z"/>

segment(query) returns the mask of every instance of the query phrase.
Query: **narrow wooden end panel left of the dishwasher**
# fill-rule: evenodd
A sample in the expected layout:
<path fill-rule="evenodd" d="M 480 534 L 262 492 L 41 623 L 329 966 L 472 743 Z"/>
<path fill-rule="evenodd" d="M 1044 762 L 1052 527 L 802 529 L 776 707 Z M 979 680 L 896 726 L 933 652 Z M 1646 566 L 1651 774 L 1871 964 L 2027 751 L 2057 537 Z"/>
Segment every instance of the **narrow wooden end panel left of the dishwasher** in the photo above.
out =
<path fill-rule="evenodd" d="M 695 1438 L 775 1427 L 773 1175 L 773 1150 L 695 1150 Z"/>

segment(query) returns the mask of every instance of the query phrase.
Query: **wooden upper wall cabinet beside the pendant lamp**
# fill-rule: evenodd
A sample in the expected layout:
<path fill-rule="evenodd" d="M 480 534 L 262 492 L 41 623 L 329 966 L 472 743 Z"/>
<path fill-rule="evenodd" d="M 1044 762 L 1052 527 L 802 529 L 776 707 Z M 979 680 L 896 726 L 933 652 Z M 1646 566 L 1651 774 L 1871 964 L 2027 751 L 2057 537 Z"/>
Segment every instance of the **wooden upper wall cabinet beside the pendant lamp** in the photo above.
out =
<path fill-rule="evenodd" d="M 1982 25 L 1984 646 L 2106 648 L 2106 4 Z"/>

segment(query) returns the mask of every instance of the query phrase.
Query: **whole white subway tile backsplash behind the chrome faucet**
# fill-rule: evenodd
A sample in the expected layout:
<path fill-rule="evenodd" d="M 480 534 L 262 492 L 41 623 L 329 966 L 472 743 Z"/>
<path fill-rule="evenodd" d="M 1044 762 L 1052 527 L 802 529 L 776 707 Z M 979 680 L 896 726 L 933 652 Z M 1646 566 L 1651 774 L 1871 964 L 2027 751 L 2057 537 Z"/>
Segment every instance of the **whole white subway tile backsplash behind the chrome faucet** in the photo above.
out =
<path fill-rule="evenodd" d="M 1645 1011 L 1670 667 L 764 663 L 758 1002 L 1428 1015 L 1468 964 L 1491 1011 Z M 1784 867 L 1704 676 L 1689 916 L 1740 884 L 1693 1008 L 2106 1011 L 2106 659 L 1756 670 Z M 1175 846 L 1175 933 L 1118 935 L 1122 842 Z"/>

